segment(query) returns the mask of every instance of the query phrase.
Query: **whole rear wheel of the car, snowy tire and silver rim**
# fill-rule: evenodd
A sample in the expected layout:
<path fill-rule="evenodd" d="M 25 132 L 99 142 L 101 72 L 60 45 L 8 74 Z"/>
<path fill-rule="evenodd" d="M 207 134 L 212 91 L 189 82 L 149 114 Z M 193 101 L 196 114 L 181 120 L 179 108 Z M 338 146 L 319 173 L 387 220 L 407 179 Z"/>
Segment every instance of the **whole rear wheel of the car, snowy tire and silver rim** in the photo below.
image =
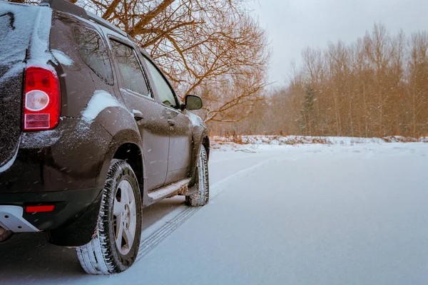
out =
<path fill-rule="evenodd" d="M 141 237 L 141 195 L 132 168 L 113 160 L 103 190 L 96 237 L 78 247 L 77 257 L 88 274 L 116 274 L 136 260 Z"/>

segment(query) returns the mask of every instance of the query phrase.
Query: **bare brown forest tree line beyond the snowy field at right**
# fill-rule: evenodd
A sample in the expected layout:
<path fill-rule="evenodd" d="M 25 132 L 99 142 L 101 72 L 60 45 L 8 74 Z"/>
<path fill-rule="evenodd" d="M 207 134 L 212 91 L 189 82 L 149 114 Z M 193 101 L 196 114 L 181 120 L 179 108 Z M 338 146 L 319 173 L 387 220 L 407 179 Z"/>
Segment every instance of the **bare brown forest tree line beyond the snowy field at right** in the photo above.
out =
<path fill-rule="evenodd" d="M 428 135 L 428 33 L 375 24 L 357 41 L 305 48 L 286 86 L 248 118 L 213 133 L 384 137 Z"/>

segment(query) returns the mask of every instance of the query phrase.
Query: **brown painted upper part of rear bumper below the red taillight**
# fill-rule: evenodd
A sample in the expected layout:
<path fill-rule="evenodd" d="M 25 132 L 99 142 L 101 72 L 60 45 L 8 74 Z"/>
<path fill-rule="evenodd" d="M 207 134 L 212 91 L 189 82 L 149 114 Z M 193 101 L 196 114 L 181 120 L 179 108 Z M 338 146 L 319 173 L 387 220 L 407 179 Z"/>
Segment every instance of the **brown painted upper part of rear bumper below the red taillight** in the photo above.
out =
<path fill-rule="evenodd" d="M 63 118 L 54 130 L 23 133 L 13 165 L 0 173 L 0 192 L 99 187 L 96 180 L 111 140 L 98 123 L 88 126 L 74 118 Z"/>

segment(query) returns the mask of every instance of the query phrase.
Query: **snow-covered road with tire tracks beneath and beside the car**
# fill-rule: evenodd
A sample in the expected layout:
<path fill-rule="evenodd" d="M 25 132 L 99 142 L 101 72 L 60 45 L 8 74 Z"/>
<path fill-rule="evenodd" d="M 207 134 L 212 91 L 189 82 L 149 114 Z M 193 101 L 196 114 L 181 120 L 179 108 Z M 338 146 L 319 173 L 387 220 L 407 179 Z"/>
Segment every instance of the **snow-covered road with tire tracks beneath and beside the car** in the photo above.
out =
<path fill-rule="evenodd" d="M 214 151 L 205 207 L 144 210 L 143 247 L 116 276 L 21 234 L 0 284 L 428 284 L 428 144 Z"/>

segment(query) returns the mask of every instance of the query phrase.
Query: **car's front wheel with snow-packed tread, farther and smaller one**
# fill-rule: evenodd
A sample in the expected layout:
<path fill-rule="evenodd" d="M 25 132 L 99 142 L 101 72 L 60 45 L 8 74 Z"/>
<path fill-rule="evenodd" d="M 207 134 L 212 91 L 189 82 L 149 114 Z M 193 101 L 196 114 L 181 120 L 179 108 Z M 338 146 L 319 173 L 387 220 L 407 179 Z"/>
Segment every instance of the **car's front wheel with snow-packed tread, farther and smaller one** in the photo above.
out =
<path fill-rule="evenodd" d="M 198 207 L 208 204 L 210 200 L 210 182 L 208 180 L 208 156 L 203 145 L 200 146 L 198 165 L 196 168 L 195 189 L 193 195 L 186 196 L 185 202 L 189 206 Z"/>

